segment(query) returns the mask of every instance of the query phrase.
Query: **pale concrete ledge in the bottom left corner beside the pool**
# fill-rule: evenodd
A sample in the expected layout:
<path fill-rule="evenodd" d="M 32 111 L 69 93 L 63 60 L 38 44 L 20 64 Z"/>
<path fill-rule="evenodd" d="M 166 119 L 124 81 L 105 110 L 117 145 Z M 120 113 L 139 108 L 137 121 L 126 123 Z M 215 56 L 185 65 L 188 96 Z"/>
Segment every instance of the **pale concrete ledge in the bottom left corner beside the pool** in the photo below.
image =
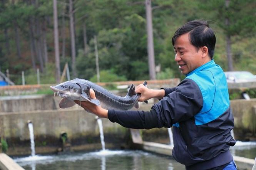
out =
<path fill-rule="evenodd" d="M 0 153 L 0 169 L 1 170 L 25 170 L 18 163 L 14 162 L 12 158 L 10 158 L 5 153 Z"/>

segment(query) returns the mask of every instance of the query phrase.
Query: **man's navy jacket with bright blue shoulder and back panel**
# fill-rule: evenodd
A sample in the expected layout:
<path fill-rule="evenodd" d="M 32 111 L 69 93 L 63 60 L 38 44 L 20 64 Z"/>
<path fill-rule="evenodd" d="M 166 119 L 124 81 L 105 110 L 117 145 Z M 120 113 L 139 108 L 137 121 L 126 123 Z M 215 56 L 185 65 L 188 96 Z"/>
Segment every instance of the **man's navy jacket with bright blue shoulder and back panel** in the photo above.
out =
<path fill-rule="evenodd" d="M 186 75 L 150 112 L 108 111 L 109 120 L 124 127 L 172 127 L 173 157 L 187 169 L 209 169 L 233 160 L 235 144 L 228 86 L 223 70 L 210 61 Z"/>

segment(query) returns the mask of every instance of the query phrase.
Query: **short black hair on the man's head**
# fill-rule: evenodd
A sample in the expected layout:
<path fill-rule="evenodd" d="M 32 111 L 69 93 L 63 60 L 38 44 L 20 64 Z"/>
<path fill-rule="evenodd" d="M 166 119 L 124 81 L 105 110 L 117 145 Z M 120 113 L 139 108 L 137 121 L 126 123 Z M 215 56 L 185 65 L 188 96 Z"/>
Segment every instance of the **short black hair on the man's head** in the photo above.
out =
<path fill-rule="evenodd" d="M 206 46 L 209 56 L 213 58 L 216 36 L 206 21 L 194 20 L 181 26 L 172 36 L 172 45 L 174 46 L 177 38 L 185 33 L 189 33 L 189 40 L 193 46 Z"/>

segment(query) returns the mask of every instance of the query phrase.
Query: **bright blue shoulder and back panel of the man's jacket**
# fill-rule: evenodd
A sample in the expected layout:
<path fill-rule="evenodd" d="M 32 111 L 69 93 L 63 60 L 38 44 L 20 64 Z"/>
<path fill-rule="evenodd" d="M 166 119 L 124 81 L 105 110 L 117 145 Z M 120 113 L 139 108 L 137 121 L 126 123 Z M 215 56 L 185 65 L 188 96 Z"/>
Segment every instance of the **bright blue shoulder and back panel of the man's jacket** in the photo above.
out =
<path fill-rule="evenodd" d="M 229 95 L 226 77 L 221 67 L 213 60 L 186 76 L 187 79 L 196 82 L 204 100 L 201 111 L 194 116 L 196 125 L 211 122 L 228 109 Z"/>

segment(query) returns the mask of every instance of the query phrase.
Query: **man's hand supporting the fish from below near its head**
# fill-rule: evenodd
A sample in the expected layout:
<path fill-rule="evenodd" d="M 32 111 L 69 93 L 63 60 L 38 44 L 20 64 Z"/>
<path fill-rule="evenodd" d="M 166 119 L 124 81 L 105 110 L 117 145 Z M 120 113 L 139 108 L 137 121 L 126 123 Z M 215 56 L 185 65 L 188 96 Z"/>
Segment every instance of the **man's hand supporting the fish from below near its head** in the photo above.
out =
<path fill-rule="evenodd" d="M 93 89 L 90 89 L 90 97 L 93 99 L 96 99 L 95 97 L 95 92 Z M 99 116 L 99 117 L 104 117 L 104 118 L 108 118 L 107 117 L 107 110 L 103 109 L 100 106 L 96 106 L 95 104 L 92 104 L 91 102 L 88 101 L 74 101 L 76 104 L 78 104 L 79 106 L 83 107 L 86 111 L 90 111 L 93 114 Z"/>

